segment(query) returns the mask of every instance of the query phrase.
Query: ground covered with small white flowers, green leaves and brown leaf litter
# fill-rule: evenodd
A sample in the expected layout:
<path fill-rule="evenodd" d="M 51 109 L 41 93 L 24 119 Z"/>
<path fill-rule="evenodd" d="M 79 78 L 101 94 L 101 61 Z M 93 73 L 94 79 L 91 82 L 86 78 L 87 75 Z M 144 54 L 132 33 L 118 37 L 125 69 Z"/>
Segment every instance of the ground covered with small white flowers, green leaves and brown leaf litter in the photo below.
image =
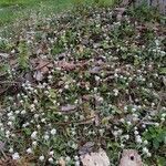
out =
<path fill-rule="evenodd" d="M 112 166 L 123 149 L 164 166 L 164 22 L 145 7 L 77 6 L 3 27 L 0 164 L 79 166 L 102 148 Z"/>

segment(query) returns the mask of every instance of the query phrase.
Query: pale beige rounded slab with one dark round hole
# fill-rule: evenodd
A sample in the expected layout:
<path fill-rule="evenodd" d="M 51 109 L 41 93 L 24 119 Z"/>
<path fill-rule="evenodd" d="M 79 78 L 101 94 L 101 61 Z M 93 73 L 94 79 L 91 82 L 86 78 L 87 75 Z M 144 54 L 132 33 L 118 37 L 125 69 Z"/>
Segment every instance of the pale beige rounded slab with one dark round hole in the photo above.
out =
<path fill-rule="evenodd" d="M 142 158 L 135 149 L 124 149 L 120 166 L 143 166 Z"/>

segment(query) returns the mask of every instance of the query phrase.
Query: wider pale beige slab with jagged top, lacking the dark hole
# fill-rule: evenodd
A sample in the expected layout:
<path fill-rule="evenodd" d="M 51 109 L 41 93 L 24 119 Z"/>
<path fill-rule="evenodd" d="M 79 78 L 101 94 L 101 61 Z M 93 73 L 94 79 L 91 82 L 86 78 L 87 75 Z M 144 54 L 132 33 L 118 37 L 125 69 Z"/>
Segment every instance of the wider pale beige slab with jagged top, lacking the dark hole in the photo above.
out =
<path fill-rule="evenodd" d="M 80 158 L 83 166 L 110 166 L 110 159 L 102 148 L 97 153 L 85 154 Z"/>

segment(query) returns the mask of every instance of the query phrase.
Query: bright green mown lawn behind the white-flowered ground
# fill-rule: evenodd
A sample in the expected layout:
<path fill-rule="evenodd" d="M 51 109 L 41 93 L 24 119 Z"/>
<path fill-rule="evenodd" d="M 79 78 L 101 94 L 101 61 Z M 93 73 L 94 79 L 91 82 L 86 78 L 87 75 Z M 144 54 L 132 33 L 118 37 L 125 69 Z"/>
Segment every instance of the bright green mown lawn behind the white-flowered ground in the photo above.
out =
<path fill-rule="evenodd" d="M 48 14 L 71 9 L 74 6 L 97 4 L 113 6 L 117 0 L 1 0 L 0 27 L 14 22 L 20 18 L 28 18 L 30 11 Z"/>

